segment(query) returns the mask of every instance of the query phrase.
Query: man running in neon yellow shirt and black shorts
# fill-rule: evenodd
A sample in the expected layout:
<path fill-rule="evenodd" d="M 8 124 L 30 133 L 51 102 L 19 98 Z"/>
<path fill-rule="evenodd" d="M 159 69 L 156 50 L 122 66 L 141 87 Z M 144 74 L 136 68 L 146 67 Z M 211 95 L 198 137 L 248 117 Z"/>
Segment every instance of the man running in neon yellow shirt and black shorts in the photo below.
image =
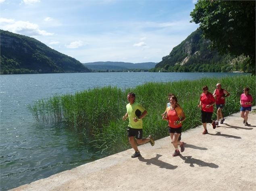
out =
<path fill-rule="evenodd" d="M 144 144 L 146 142 L 150 142 L 150 144 L 154 146 L 155 142 L 151 135 L 148 136 L 148 138 L 142 138 L 142 118 L 147 115 L 147 111 L 142 107 L 141 104 L 135 102 L 135 93 L 128 93 L 127 100 L 129 104 L 126 105 L 127 112 L 125 116 L 123 116 L 123 121 L 129 118 L 129 124 L 127 127 L 128 138 L 131 147 L 135 150 L 135 153 L 131 155 L 131 158 L 135 158 L 141 156 L 137 144 Z"/>

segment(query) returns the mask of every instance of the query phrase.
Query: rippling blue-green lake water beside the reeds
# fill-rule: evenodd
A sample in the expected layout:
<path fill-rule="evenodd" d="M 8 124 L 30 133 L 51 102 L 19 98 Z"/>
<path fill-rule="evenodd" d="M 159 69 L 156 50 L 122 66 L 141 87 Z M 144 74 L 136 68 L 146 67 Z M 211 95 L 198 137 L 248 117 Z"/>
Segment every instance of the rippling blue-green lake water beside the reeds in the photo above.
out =
<path fill-rule="evenodd" d="M 102 156 L 64 124 L 38 124 L 27 110 L 41 98 L 106 85 L 122 89 L 146 82 L 193 80 L 241 73 L 60 73 L 0 75 L 0 186 L 8 190 Z M 126 98 L 124 98 L 126 100 Z"/>

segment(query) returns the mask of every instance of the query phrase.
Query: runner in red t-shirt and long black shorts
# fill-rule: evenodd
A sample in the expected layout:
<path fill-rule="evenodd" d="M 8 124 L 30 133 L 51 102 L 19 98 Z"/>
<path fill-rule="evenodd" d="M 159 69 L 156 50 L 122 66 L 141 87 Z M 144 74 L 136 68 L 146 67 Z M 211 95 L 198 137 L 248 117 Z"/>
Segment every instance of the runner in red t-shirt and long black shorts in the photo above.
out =
<path fill-rule="evenodd" d="M 202 124 L 204 127 L 204 132 L 202 134 L 208 134 L 206 123 L 212 123 L 212 128 L 216 128 L 215 121 L 212 121 L 212 113 L 213 113 L 213 105 L 215 103 L 215 99 L 213 95 L 208 92 L 208 87 L 206 85 L 203 86 L 203 93 L 200 96 L 200 104 L 198 108 L 201 108 L 201 118 Z"/>

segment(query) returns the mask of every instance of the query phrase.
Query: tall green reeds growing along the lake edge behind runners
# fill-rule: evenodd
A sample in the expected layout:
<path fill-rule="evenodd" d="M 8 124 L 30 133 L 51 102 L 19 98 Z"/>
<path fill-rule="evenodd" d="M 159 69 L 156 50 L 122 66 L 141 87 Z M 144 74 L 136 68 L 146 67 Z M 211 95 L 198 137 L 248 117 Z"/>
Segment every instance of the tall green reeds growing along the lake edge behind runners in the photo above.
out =
<path fill-rule="evenodd" d="M 148 111 L 143 120 L 144 136 L 152 134 L 155 139 L 168 136 L 167 122 L 161 114 L 165 110 L 168 93 L 174 93 L 183 108 L 186 120 L 183 131 L 201 124 L 199 104 L 202 86 L 207 85 L 213 92 L 216 83 L 221 83 L 231 94 L 226 99 L 224 116 L 239 111 L 239 99 L 245 86 L 255 99 L 255 76 L 203 78 L 194 81 L 175 81 L 168 83 L 146 83 L 125 91 L 117 87 L 103 87 L 77 92 L 75 95 L 54 95 L 42 99 L 28 108 L 33 117 L 42 123 L 66 122 L 85 136 L 85 144 L 97 148 L 102 154 L 113 154 L 130 148 L 127 138 L 128 121 L 123 122 L 127 104 L 127 93 L 133 91 L 136 100 Z M 213 118 L 216 119 L 216 108 Z"/>

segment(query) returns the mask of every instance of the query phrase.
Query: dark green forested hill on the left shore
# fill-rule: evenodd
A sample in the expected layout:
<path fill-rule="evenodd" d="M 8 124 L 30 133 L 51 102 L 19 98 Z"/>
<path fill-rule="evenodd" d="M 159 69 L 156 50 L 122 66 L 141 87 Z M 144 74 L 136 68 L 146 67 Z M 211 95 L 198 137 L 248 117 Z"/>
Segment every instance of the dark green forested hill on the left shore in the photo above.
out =
<path fill-rule="evenodd" d="M 34 38 L 0 30 L 1 74 L 90 72 L 76 59 Z"/>

